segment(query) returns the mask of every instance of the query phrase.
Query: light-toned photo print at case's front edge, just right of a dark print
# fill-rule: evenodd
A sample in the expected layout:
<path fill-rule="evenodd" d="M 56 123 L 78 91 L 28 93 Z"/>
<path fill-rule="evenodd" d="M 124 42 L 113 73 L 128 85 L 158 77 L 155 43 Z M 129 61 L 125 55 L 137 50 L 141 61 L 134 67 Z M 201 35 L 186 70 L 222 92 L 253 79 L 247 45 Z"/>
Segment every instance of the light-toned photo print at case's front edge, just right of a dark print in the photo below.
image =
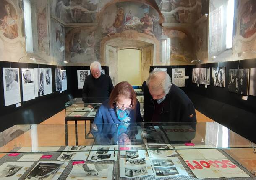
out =
<path fill-rule="evenodd" d="M 66 180 L 112 180 L 113 164 L 77 164 L 73 165 Z"/>

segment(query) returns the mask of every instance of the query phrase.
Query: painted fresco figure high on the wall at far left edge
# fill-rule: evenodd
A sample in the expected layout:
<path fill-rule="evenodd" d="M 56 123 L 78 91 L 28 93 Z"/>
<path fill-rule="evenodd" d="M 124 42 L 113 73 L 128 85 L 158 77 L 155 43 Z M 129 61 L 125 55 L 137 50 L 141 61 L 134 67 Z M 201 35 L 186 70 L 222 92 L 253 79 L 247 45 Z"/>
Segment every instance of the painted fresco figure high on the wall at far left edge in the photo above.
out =
<path fill-rule="evenodd" d="M 5 10 L 7 15 L 0 19 L 2 24 L 0 25 L 0 30 L 4 31 L 4 36 L 9 39 L 14 39 L 18 37 L 18 28 L 17 28 L 17 16 L 11 15 L 10 4 L 5 5 Z"/>

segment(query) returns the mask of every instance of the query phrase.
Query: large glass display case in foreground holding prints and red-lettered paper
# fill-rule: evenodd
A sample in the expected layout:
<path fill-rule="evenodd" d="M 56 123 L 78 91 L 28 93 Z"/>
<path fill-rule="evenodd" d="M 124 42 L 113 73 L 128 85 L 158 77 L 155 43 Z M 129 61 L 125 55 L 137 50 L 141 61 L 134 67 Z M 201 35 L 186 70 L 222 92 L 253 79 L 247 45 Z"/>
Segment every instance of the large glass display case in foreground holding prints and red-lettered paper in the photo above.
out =
<path fill-rule="evenodd" d="M 255 180 L 255 145 L 217 122 L 16 125 L 0 178 Z"/>

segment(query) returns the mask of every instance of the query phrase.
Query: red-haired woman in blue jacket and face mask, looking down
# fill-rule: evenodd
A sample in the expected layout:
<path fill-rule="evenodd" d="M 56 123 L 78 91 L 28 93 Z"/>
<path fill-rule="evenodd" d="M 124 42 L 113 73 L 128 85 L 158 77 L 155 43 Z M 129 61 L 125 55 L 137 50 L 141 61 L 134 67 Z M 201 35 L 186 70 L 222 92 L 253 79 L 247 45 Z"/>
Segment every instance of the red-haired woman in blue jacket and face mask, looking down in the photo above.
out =
<path fill-rule="evenodd" d="M 95 124 L 142 122 L 140 104 L 131 84 L 118 83 L 110 98 L 102 103 L 94 118 Z"/>

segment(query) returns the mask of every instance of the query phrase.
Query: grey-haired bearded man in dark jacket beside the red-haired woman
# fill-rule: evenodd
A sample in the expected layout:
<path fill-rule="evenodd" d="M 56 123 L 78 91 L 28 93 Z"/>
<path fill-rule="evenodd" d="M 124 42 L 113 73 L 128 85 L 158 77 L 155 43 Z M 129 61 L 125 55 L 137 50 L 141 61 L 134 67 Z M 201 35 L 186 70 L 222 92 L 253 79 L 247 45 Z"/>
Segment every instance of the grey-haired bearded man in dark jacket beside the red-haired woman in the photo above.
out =
<path fill-rule="evenodd" d="M 188 96 L 161 70 L 151 73 L 144 89 L 144 122 L 196 122 Z"/>

